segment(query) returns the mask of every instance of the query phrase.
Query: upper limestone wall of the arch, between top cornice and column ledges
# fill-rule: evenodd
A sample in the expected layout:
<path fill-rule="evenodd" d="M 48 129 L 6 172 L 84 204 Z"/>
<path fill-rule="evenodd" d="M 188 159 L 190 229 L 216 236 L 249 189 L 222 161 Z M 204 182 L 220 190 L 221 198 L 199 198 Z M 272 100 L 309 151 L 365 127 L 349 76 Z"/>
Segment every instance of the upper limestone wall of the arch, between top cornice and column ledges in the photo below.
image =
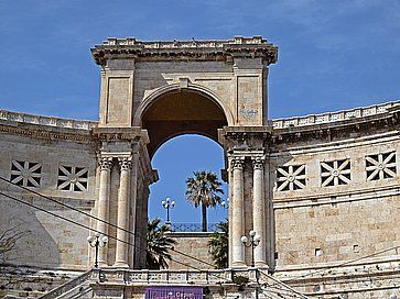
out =
<path fill-rule="evenodd" d="M 224 106 L 229 125 L 264 124 L 268 69 L 261 59 L 237 60 L 108 60 L 101 76 L 100 126 L 140 125 L 148 97 L 169 85 L 212 92 Z"/>

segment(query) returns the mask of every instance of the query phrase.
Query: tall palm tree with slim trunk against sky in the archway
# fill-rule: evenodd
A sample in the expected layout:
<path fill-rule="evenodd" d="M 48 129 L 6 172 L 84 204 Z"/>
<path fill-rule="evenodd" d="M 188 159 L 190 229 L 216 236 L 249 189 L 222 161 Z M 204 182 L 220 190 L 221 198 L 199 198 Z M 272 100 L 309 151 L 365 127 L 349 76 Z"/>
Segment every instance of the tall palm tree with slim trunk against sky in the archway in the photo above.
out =
<path fill-rule="evenodd" d="M 197 208 L 202 204 L 203 232 L 207 231 L 207 208 L 220 203 L 218 193 L 224 193 L 220 189 L 220 181 L 215 173 L 195 171 L 194 177 L 186 179 L 186 199 Z"/>

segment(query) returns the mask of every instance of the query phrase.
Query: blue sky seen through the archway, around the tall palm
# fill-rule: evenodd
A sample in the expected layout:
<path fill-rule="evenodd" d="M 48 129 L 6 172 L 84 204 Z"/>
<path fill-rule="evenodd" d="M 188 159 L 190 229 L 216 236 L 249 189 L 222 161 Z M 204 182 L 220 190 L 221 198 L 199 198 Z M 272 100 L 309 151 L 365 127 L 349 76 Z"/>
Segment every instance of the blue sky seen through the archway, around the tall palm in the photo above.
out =
<path fill-rule="evenodd" d="M 208 137 L 184 134 L 163 143 L 152 158 L 152 165 L 159 171 L 160 180 L 150 186 L 149 219 L 166 220 L 166 210 L 161 202 L 166 197 L 175 201 L 170 220 L 175 231 L 201 231 L 202 209 L 195 208 L 185 199 L 185 180 L 193 171 L 206 170 L 218 175 L 224 168 L 224 151 L 219 144 Z M 223 182 L 223 201 L 228 197 L 228 186 Z M 214 231 L 215 224 L 228 217 L 227 207 L 217 206 L 207 210 L 207 231 Z"/>

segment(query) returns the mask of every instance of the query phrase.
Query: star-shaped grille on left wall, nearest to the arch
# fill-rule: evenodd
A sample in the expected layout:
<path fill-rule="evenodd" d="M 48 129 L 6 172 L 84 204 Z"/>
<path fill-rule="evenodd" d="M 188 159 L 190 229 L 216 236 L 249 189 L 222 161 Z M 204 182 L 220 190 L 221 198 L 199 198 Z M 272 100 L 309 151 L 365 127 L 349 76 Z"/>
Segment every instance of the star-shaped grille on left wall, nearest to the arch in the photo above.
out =
<path fill-rule="evenodd" d="M 57 189 L 64 191 L 86 191 L 88 168 L 76 166 L 58 167 Z"/>

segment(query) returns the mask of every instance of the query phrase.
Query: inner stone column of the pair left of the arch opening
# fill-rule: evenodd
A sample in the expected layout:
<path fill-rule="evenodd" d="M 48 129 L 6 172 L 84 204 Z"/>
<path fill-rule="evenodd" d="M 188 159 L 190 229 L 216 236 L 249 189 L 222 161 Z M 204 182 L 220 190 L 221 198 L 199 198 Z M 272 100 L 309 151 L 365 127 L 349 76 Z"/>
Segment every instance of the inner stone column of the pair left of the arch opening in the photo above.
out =
<path fill-rule="evenodd" d="M 129 267 L 128 248 L 129 245 L 129 209 L 130 209 L 130 173 L 132 169 L 132 159 L 129 157 L 118 158 L 121 168 L 118 191 L 118 228 L 117 229 L 117 247 L 115 267 Z M 120 240 L 120 241 L 119 241 Z M 123 241 L 123 242 L 121 242 Z"/>

